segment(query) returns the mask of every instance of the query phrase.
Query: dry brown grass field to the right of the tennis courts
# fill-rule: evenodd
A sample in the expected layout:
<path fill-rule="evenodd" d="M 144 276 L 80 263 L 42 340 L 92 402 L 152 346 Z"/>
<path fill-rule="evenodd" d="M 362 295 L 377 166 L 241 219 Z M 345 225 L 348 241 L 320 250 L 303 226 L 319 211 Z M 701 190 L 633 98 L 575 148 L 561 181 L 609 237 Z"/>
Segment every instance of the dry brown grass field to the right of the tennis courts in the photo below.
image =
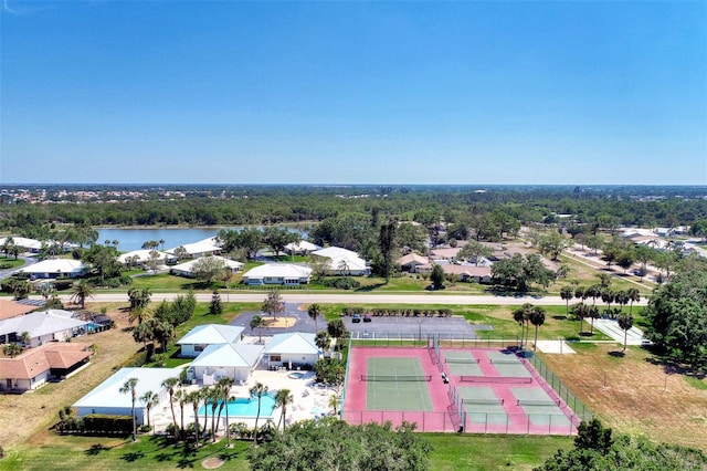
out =
<path fill-rule="evenodd" d="M 604 425 L 624 433 L 707 450 L 707 390 L 651 362 L 648 352 L 615 345 L 578 355 L 540 355 Z M 703 379 L 705 380 L 705 379 Z"/>

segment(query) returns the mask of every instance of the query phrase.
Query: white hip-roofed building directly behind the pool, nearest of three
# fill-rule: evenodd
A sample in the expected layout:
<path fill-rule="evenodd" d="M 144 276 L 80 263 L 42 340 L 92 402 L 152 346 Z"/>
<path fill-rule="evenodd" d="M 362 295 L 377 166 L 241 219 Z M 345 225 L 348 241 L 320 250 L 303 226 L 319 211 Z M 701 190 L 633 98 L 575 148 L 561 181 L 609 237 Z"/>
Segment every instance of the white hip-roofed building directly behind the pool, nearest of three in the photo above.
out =
<path fill-rule="evenodd" d="M 245 381 L 257 366 L 263 349 L 262 345 L 253 344 L 209 345 L 189 369 L 204 386 L 215 384 L 221 378 Z"/>

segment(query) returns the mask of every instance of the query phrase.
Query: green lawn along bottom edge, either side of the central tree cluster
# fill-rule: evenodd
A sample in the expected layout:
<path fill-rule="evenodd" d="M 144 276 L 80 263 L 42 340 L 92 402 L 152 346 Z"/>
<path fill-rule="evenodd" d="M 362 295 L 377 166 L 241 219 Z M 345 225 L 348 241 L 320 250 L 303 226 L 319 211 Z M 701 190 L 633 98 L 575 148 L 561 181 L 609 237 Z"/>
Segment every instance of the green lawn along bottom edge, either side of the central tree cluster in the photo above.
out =
<path fill-rule="evenodd" d="M 570 448 L 569 437 L 532 436 L 474 436 L 452 433 L 422 433 L 433 447 L 430 469 L 494 470 L 531 469 L 562 448 Z M 229 470 L 249 470 L 245 458 L 250 441 L 209 443 L 194 450 L 190 446 L 171 446 L 162 438 L 140 437 L 133 443 L 128 439 L 97 437 L 53 437 L 51 444 L 23 446 L 6 451 L 0 470 L 165 470 L 203 469 L 202 461 L 218 457 L 226 460 Z"/>

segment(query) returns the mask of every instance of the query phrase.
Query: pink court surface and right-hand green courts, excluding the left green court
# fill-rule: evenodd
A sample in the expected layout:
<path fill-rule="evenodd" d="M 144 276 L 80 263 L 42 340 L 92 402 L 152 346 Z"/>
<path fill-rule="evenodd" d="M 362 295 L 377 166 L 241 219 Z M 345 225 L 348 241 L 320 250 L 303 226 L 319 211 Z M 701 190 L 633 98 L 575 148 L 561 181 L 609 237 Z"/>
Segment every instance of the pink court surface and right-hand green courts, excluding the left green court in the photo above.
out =
<path fill-rule="evenodd" d="M 469 376 L 460 364 L 445 363 L 445 352 L 457 358 L 474 358 L 478 369 Z M 403 421 L 416 422 L 418 430 L 434 432 L 571 435 L 577 431 L 580 419 L 532 365 L 514 353 L 497 348 L 445 348 L 441 356 L 437 358 L 433 347 L 352 346 L 344 420 L 351 425 L 390 421 L 393 427 Z M 368 359 L 391 357 L 418 358 L 424 375 L 432 375 L 431 381 L 423 383 L 429 388 L 432 411 L 368 407 L 368 381 L 361 379 L 362 375 L 370 374 Z"/>

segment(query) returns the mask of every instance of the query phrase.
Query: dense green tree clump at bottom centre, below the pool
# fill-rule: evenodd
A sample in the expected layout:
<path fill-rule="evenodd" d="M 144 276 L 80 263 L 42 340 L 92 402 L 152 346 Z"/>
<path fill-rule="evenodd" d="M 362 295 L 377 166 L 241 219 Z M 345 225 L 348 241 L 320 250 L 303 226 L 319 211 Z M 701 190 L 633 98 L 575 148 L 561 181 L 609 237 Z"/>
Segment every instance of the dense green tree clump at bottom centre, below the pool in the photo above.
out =
<path fill-rule="evenodd" d="M 390 423 L 306 420 L 252 448 L 249 459 L 255 471 L 426 470 L 431 447 L 413 430 L 409 423 L 393 429 Z"/>

